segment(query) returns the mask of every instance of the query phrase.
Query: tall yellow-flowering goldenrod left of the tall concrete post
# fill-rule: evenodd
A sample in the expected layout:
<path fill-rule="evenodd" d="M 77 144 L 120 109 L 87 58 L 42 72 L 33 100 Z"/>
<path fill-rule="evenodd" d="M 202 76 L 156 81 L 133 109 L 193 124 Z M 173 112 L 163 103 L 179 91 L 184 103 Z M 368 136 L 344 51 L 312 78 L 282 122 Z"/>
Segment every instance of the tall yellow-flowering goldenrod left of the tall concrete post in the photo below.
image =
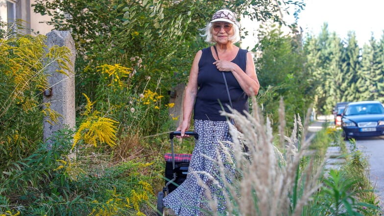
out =
<path fill-rule="evenodd" d="M 42 139 L 43 116 L 57 121 L 58 114 L 42 103 L 42 92 L 49 88 L 45 69 L 56 63 L 68 70 L 69 49 L 48 49 L 45 39 L 0 39 L 0 171 L 35 150 Z"/>

